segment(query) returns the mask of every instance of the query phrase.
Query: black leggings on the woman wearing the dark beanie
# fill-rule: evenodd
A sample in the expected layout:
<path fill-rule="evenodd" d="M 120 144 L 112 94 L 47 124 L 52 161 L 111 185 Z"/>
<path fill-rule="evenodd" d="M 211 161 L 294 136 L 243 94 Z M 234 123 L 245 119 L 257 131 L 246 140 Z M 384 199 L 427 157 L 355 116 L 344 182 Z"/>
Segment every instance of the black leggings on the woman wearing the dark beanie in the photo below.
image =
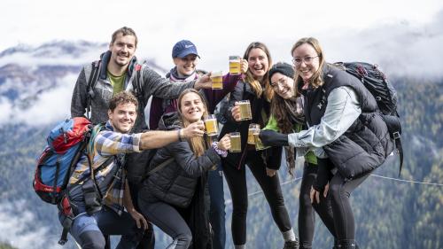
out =
<path fill-rule="evenodd" d="M 300 248 L 311 248 L 315 230 L 315 212 L 320 216 L 324 225 L 330 230 L 333 237 L 335 235 L 334 220 L 332 218 L 332 208 L 330 198 L 320 198 L 320 204 L 311 203 L 309 196 L 312 184 L 317 176 L 317 166 L 305 162 L 303 177 L 301 179 L 299 196 L 299 240 Z"/>

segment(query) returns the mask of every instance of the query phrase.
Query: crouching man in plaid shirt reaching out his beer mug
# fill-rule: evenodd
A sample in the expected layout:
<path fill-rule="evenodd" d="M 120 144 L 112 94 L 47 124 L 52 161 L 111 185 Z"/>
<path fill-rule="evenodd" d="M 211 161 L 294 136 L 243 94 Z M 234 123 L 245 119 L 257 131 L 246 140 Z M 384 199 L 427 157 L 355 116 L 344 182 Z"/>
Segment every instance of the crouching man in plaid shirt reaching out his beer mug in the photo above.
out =
<path fill-rule="evenodd" d="M 131 93 L 120 92 L 110 102 L 109 120 L 89 142 L 88 157 L 83 156 L 69 179 L 66 200 L 74 221 L 69 232 L 83 249 L 105 248 L 104 235 L 121 235 L 117 249 L 136 248 L 147 228 L 144 216 L 136 212 L 128 189 L 124 155 L 159 148 L 180 137 L 203 136 L 204 126 L 194 124 L 175 131 L 148 131 L 128 134 L 136 121 L 137 99 Z M 96 127 L 95 129 L 97 129 Z M 65 205 L 64 205 L 65 207 Z M 126 207 L 126 211 L 124 208 Z M 60 213 L 64 223 L 66 216 Z"/>

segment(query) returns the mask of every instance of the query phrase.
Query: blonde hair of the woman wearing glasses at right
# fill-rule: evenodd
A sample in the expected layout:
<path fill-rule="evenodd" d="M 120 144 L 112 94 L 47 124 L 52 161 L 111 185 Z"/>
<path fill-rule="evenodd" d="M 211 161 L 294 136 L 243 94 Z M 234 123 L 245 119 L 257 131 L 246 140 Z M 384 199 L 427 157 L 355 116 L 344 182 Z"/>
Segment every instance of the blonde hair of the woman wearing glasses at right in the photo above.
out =
<path fill-rule="evenodd" d="M 325 61 L 324 61 L 324 53 L 323 53 L 322 47 L 320 46 L 320 43 L 318 42 L 318 40 L 315 39 L 314 37 L 304 37 L 304 38 L 299 39 L 299 41 L 297 41 L 297 43 L 295 43 L 292 46 L 291 56 L 293 55 L 294 51 L 299 46 L 301 46 L 301 45 L 303 45 L 305 43 L 311 45 L 314 48 L 314 50 L 317 53 L 317 55 L 318 55 L 318 59 L 319 59 L 318 70 L 309 79 L 309 84 L 311 86 L 313 86 L 314 88 L 318 88 L 319 86 L 322 86 L 323 83 L 324 83 L 323 82 L 323 70 L 322 69 L 323 69 L 323 65 L 325 63 Z M 299 96 L 299 84 L 300 83 L 303 84 L 304 82 L 303 82 L 303 79 L 301 78 L 297 68 L 295 70 L 294 82 L 295 82 L 295 89 L 298 92 L 297 95 Z"/>

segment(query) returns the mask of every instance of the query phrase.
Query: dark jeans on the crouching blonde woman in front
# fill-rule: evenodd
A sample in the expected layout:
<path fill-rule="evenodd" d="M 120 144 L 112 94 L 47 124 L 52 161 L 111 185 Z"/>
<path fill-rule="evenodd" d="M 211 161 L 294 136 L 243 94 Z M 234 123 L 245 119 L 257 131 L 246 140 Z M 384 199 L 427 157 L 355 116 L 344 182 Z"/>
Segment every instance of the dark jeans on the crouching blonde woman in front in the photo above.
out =
<path fill-rule="evenodd" d="M 171 206 L 152 195 L 138 198 L 138 203 L 144 216 L 174 239 L 168 249 L 187 249 L 190 246 L 192 233 L 183 219 L 189 215 L 184 208 Z"/>

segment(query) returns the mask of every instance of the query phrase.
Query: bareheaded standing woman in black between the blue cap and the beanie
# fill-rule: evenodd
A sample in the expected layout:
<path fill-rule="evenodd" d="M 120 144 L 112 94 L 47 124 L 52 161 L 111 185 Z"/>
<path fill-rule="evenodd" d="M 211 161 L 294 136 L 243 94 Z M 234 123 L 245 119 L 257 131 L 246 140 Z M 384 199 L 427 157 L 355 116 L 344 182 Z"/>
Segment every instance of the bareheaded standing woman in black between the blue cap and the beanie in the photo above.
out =
<path fill-rule="evenodd" d="M 241 134 L 242 152 L 229 153 L 228 157 L 221 161 L 232 197 L 232 239 L 235 249 L 245 248 L 248 208 L 245 176 L 245 165 L 247 165 L 268 200 L 272 217 L 284 237 L 284 248 L 298 248 L 298 240 L 291 227 L 291 220 L 284 205 L 280 179 L 275 170 L 280 164 L 280 154 L 270 155 L 278 159 L 277 162 L 266 163 L 262 157 L 264 151 L 256 151 L 253 144 L 246 143 L 250 123 L 260 124 L 262 128 L 268 122 L 269 102 L 273 94 L 268 82 L 268 70 L 272 60 L 268 48 L 263 43 L 251 43 L 243 58 L 248 61 L 249 68 L 245 74 L 245 80 L 238 82 L 236 89 L 231 92 L 226 113 L 229 121 L 221 129 L 220 135 L 233 131 Z M 249 100 L 251 103 L 251 121 L 240 121 L 237 105 L 239 100 Z"/>

